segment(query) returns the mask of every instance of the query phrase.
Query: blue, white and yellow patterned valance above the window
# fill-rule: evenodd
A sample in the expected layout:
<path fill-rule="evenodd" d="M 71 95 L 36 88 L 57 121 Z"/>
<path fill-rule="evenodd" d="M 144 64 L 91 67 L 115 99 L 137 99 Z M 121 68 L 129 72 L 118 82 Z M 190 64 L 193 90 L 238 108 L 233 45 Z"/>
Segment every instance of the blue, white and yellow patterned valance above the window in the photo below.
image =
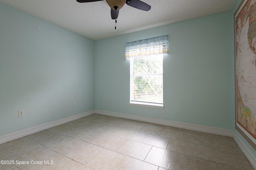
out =
<path fill-rule="evenodd" d="M 126 43 L 126 58 L 164 53 L 168 53 L 167 35 Z"/>

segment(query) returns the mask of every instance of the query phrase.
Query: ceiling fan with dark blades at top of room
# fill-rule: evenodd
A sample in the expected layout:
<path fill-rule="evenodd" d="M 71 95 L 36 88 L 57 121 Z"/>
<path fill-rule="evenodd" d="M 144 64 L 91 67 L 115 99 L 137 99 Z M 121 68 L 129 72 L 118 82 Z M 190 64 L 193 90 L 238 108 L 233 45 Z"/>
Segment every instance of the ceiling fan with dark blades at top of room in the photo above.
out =
<path fill-rule="evenodd" d="M 83 2 L 96 2 L 96 1 L 102 1 L 102 0 L 76 0 L 76 1 L 83 3 Z M 151 9 L 150 5 L 140 0 L 106 0 L 106 2 L 111 8 L 111 18 L 113 20 L 117 19 L 119 10 L 124 6 L 124 4 L 127 4 L 128 6 L 137 8 L 139 10 L 144 10 L 144 11 L 149 11 Z"/>

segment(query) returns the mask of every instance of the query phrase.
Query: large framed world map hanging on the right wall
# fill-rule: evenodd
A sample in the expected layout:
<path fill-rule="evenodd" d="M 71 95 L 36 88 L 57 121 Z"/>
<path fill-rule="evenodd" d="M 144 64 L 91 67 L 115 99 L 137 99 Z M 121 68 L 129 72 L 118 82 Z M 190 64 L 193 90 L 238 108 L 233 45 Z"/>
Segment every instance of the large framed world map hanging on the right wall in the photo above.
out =
<path fill-rule="evenodd" d="M 244 0 L 234 15 L 236 125 L 256 144 L 256 0 Z"/>

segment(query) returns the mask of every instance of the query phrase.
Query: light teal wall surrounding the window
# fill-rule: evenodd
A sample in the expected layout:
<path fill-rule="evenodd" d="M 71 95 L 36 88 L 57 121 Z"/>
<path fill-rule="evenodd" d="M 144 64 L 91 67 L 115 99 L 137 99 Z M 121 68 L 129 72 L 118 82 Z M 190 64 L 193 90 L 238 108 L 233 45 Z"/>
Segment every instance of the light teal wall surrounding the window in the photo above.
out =
<path fill-rule="evenodd" d="M 96 41 L 95 109 L 232 129 L 231 24 L 224 12 Z M 130 106 L 125 43 L 166 34 L 164 109 Z"/>

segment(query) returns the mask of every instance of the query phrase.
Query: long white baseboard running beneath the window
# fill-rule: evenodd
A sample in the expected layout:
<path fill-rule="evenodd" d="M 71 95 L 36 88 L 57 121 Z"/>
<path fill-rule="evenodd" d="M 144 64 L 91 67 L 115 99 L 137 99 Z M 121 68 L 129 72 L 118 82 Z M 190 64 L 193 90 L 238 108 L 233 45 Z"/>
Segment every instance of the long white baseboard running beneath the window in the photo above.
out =
<path fill-rule="evenodd" d="M 132 120 L 148 122 L 148 123 L 155 123 L 158 125 L 166 125 L 166 126 L 170 126 L 170 127 L 184 128 L 184 129 L 195 130 L 195 131 L 199 131 L 199 132 L 218 134 L 218 135 L 222 135 L 222 136 L 232 137 L 232 135 L 233 135 L 233 130 L 216 128 L 216 127 L 207 127 L 207 126 L 202 126 L 202 125 L 194 125 L 194 124 L 189 124 L 189 123 L 181 123 L 181 122 L 175 122 L 175 121 L 168 121 L 168 120 L 155 119 L 155 118 L 150 118 L 150 117 L 142 117 L 142 116 L 128 115 L 128 114 L 124 114 L 124 113 L 115 113 L 115 112 L 108 112 L 108 111 L 100 111 L 100 110 L 95 110 L 94 113 L 100 114 L 100 115 L 120 117 L 120 118 L 125 118 L 125 119 L 132 119 Z"/>

